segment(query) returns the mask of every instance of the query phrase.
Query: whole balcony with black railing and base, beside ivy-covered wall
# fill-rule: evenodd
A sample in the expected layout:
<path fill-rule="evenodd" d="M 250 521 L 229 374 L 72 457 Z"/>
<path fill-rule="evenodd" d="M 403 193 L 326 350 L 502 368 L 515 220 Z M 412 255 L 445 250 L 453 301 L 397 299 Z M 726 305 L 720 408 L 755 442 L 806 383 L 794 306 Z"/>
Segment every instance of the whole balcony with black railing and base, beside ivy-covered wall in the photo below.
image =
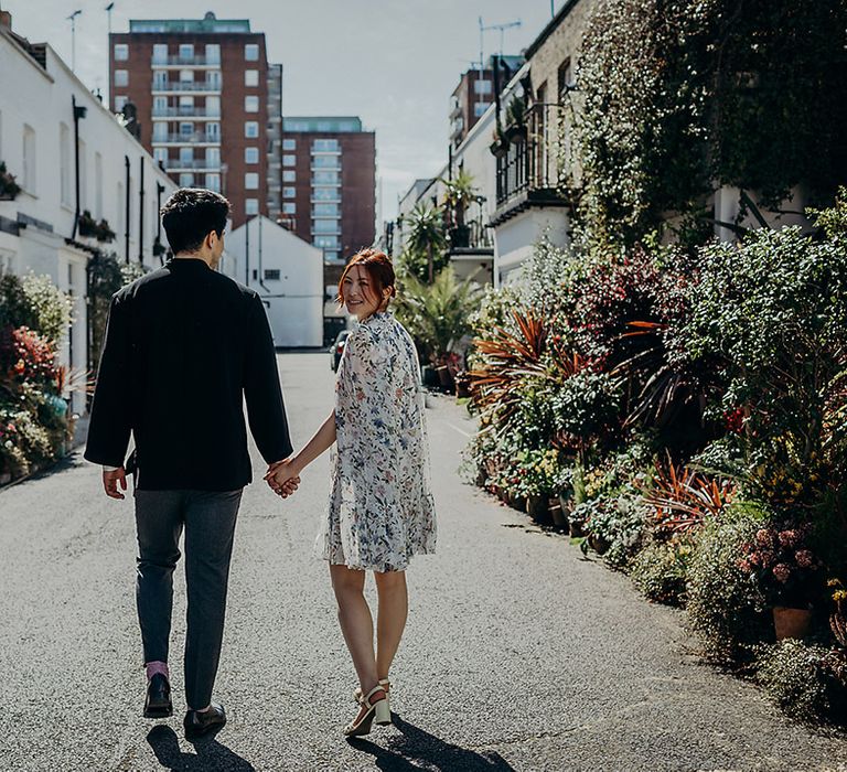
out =
<path fill-rule="evenodd" d="M 523 127 L 506 127 L 512 137 L 497 158 L 497 208 L 491 225 L 498 225 L 529 207 L 564 207 L 570 202 L 559 190 L 556 141 L 562 107 L 534 105 Z"/>

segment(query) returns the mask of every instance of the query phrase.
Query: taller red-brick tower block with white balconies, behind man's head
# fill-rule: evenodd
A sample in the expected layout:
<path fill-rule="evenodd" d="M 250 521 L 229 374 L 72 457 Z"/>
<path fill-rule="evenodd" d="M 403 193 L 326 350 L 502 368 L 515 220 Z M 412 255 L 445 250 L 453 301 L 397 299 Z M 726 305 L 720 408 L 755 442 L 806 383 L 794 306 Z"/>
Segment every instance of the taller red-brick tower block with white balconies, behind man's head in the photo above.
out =
<path fill-rule="evenodd" d="M 142 144 L 180 186 L 226 195 L 236 226 L 268 214 L 277 73 L 246 19 L 131 20 L 109 35 L 112 110 L 131 103 Z"/>

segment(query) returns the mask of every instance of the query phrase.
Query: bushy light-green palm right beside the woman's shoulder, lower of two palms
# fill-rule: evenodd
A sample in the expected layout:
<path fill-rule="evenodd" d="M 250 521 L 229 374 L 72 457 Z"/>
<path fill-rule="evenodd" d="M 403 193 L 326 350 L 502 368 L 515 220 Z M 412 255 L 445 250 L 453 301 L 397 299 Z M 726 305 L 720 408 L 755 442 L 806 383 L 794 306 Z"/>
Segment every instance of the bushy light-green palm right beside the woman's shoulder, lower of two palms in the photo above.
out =
<path fill-rule="evenodd" d="M 479 285 L 459 281 L 450 267 L 440 271 L 431 285 L 408 276 L 397 299 L 397 318 L 425 358 L 443 363 L 452 344 L 471 332 L 471 313 L 479 309 L 481 297 Z"/>

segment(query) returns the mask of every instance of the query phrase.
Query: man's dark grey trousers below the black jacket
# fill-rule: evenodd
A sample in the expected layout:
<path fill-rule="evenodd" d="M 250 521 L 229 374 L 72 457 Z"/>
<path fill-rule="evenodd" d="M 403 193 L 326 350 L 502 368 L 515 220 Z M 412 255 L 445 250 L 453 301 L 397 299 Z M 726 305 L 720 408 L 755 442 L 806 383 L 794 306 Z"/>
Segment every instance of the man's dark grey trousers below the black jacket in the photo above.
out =
<path fill-rule="evenodd" d="M 242 490 L 136 491 L 138 559 L 136 602 L 144 662 L 168 662 L 173 609 L 173 569 L 185 529 L 185 698 L 205 708 L 224 639 L 229 559 Z"/>

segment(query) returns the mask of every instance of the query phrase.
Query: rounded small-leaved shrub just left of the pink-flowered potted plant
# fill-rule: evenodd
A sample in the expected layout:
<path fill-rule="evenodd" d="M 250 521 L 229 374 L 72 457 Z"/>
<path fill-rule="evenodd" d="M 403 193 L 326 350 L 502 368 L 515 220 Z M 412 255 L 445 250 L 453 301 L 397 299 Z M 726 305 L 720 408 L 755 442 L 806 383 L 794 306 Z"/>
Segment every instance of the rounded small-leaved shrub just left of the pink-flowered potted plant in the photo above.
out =
<path fill-rule="evenodd" d="M 705 653 L 731 662 L 748 658 L 751 647 L 772 636 L 770 620 L 758 609 L 761 596 L 738 567 L 742 547 L 760 524 L 742 514 L 725 513 L 700 533 L 688 569 L 688 622 Z"/>

